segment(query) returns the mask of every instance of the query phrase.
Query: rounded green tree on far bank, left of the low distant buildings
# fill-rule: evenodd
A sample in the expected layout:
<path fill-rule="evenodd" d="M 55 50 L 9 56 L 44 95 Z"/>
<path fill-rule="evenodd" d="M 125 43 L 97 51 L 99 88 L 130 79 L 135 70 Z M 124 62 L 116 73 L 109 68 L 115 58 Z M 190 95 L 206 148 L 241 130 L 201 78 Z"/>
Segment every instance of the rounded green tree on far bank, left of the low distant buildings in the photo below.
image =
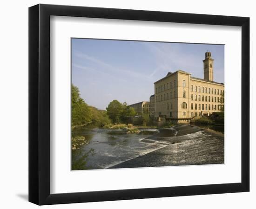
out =
<path fill-rule="evenodd" d="M 113 121 L 113 123 L 120 123 L 120 118 L 123 113 L 123 105 L 119 101 L 113 100 L 110 102 L 106 110 L 108 117 Z"/>

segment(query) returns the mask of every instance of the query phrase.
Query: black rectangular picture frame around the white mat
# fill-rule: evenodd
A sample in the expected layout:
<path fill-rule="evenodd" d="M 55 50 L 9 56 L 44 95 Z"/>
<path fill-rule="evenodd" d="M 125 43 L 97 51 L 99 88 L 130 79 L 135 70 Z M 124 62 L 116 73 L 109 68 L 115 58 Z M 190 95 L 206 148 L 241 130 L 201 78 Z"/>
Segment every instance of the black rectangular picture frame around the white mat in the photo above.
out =
<path fill-rule="evenodd" d="M 50 194 L 50 16 L 242 26 L 241 183 Z M 39 4 L 29 8 L 29 201 L 38 205 L 249 191 L 249 18 Z"/>

